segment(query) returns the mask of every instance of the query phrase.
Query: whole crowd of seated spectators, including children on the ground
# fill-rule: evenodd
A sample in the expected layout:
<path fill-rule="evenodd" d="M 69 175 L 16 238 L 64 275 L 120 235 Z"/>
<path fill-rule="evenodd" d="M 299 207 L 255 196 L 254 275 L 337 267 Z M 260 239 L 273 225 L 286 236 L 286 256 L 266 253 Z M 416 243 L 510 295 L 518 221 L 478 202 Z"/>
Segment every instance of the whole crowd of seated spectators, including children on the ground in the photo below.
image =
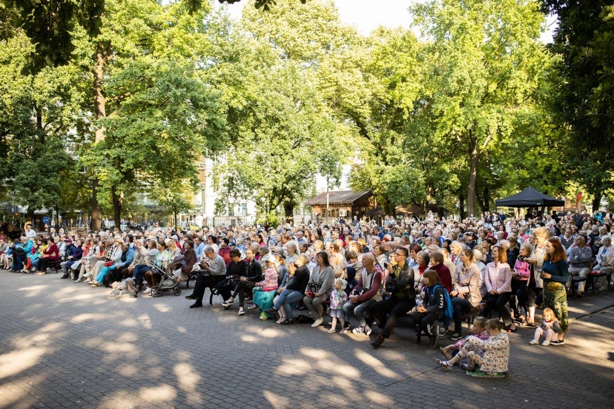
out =
<path fill-rule="evenodd" d="M 185 297 L 193 301 L 190 308 L 203 306 L 209 289 L 224 310 L 238 304 L 239 316 L 254 310 L 280 325 L 305 318 L 301 310 L 309 311 L 312 327 L 330 316 L 329 333 L 369 336 L 376 325 L 373 348 L 381 348 L 405 317 L 418 343 L 426 335 L 435 346 L 446 334 L 456 342 L 441 349 L 446 360 L 438 362 L 446 370 L 467 359 L 469 372 L 492 375 L 507 371 L 506 333 L 518 326 L 536 329 L 532 344 L 540 337 L 544 346 L 564 344 L 571 277 L 597 270 L 605 281 L 593 286 L 612 285 L 612 235 L 609 209 L 593 216 L 486 212 L 456 220 L 429 214 L 424 220 L 387 217 L 381 226 L 354 217 L 322 225 L 88 235 L 50 229 L 39 236 L 26 224 L 14 241 L 0 232 L 0 261 L 14 273 L 44 275 L 52 268 L 62 279 L 112 287 L 113 296 L 123 289 L 131 297 L 152 294 L 165 276 L 179 285 L 195 278 Z M 578 283 L 578 297 L 585 286 Z M 476 308 L 483 308 L 483 321 L 474 322 L 480 331 L 464 338 L 462 319 Z"/>

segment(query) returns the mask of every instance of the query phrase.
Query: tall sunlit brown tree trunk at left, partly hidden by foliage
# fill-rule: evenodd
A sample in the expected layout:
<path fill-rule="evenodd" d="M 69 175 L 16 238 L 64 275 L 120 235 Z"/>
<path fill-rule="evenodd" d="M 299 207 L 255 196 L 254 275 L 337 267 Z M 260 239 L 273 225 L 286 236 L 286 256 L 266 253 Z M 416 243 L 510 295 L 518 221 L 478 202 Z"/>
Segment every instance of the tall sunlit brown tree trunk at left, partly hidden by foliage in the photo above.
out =
<path fill-rule="evenodd" d="M 106 103 L 107 99 L 103 95 L 103 80 L 104 80 L 104 66 L 110 55 L 110 47 L 99 41 L 96 46 L 96 65 L 93 71 L 93 87 L 94 94 L 94 111 L 96 119 L 103 119 L 106 117 Z M 95 131 L 95 143 L 104 139 L 104 127 L 100 127 Z M 99 232 L 101 228 L 101 221 L 103 218 L 103 211 L 98 203 L 98 177 L 94 173 L 93 180 L 91 182 L 91 222 L 90 230 Z"/>

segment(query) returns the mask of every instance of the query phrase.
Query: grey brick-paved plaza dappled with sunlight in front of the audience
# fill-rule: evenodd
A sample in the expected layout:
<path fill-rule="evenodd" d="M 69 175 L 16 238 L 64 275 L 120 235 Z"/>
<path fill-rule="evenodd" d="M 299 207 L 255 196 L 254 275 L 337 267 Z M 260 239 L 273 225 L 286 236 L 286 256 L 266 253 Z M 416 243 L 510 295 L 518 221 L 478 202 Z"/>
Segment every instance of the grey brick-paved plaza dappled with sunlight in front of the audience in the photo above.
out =
<path fill-rule="evenodd" d="M 190 310 L 185 289 L 117 299 L 56 274 L 0 279 L 2 408 L 575 409 L 614 399 L 614 292 L 570 300 L 564 346 L 510 334 L 507 377 L 483 379 L 446 373 L 407 323 L 374 350 L 362 334 Z"/>

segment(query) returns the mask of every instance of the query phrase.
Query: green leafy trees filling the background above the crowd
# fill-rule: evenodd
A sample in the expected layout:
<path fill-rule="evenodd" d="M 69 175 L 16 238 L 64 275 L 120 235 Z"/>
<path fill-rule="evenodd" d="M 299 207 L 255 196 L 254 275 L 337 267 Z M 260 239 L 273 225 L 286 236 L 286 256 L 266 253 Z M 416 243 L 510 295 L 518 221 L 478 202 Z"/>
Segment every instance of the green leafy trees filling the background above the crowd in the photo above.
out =
<path fill-rule="evenodd" d="M 327 0 L 252 0 L 238 22 L 203 1 L 2 0 L 1 177 L 31 209 L 115 219 L 139 192 L 190 209 L 203 157 L 220 203 L 254 200 L 267 222 L 343 165 L 390 214 L 479 213 L 527 185 L 598 206 L 612 195 L 613 10 L 427 1 L 412 29 L 365 37 Z"/>

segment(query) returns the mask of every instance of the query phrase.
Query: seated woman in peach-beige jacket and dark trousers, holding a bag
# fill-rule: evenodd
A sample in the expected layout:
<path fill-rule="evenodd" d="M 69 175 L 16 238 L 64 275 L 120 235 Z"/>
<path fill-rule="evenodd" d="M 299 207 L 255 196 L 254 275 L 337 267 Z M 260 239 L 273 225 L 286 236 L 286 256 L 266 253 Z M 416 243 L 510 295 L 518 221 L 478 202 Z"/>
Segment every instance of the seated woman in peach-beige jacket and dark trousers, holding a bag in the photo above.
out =
<path fill-rule="evenodd" d="M 451 340 L 457 341 L 462 338 L 461 323 L 463 308 L 478 306 L 482 300 L 480 295 L 480 269 L 475 265 L 475 255 L 472 249 L 465 249 L 459 256 L 461 265 L 454 272 L 453 289 L 450 292 L 452 298 L 452 317 L 454 319 L 454 333 Z"/>

